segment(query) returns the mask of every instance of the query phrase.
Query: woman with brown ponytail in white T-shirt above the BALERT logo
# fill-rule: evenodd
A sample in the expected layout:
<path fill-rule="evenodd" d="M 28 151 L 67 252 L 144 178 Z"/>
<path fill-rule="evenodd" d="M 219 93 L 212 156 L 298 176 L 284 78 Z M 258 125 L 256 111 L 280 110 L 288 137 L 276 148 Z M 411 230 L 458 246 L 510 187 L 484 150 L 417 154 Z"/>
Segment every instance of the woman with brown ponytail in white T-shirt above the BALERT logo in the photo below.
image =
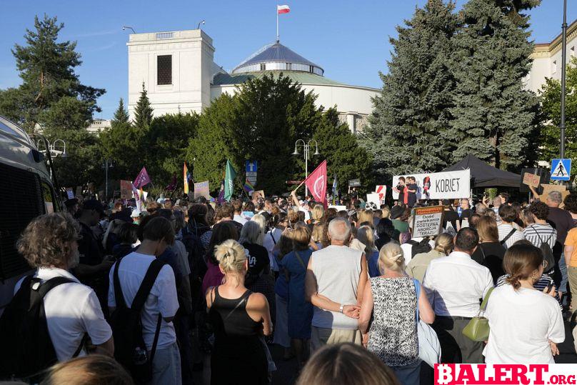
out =
<path fill-rule="evenodd" d="M 487 364 L 555 364 L 555 344 L 565 340 L 563 316 L 553 293 L 533 284 L 543 274 L 543 254 L 533 245 L 511 246 L 503 260 L 507 284 L 493 290 L 485 316 Z"/>

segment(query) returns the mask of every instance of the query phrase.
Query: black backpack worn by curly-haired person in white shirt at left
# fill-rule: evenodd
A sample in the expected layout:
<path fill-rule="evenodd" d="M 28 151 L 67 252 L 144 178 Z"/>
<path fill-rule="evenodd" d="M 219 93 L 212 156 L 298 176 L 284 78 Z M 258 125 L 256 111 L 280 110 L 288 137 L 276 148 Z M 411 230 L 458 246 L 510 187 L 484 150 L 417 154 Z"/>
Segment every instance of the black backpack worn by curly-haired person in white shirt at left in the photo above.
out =
<path fill-rule="evenodd" d="M 64 276 L 44 283 L 34 276 L 26 276 L 20 289 L 0 317 L 0 378 L 29 379 L 37 382 L 44 369 L 56 364 L 56 351 L 48 333 L 44 296 L 51 289 L 72 281 Z M 74 357 L 78 356 L 84 339 Z"/>

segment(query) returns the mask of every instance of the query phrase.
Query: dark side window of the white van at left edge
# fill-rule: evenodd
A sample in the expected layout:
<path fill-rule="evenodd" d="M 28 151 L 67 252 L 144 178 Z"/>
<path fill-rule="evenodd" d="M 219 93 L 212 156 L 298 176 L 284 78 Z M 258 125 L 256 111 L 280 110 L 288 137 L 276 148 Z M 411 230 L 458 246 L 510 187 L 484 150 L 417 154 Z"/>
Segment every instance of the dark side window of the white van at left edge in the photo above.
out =
<path fill-rule="evenodd" d="M 30 270 L 16 251 L 16 241 L 46 208 L 41 181 L 34 172 L 0 163 L 0 181 L 0 280 L 5 280 Z"/>

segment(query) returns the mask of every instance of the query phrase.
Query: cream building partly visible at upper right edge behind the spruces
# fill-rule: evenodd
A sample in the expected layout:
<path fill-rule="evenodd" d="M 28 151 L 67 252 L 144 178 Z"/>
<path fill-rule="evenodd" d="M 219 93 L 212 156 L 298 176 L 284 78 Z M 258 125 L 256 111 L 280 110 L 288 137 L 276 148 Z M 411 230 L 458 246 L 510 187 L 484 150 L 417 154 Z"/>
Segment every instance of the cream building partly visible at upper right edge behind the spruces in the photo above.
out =
<path fill-rule="evenodd" d="M 567 27 L 567 63 L 575 56 L 577 20 Z M 561 34 L 549 43 L 535 44 L 531 72 L 526 76 L 526 88 L 538 94 L 546 78 L 561 80 Z"/>

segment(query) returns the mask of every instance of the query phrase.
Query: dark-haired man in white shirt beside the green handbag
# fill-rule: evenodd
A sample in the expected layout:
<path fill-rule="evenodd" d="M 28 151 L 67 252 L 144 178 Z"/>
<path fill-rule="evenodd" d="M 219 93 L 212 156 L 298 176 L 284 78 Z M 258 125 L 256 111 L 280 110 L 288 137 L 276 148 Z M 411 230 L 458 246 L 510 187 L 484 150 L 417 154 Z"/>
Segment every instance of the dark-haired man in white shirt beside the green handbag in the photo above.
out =
<path fill-rule="evenodd" d="M 423 279 L 436 315 L 433 329 L 441 342 L 443 363 L 483 362 L 483 342 L 471 341 L 462 334 L 463 328 L 478 314 L 481 299 L 493 287 L 489 269 L 471 259 L 478 241 L 475 230 L 459 230 L 455 250 L 448 256 L 433 259 Z"/>

